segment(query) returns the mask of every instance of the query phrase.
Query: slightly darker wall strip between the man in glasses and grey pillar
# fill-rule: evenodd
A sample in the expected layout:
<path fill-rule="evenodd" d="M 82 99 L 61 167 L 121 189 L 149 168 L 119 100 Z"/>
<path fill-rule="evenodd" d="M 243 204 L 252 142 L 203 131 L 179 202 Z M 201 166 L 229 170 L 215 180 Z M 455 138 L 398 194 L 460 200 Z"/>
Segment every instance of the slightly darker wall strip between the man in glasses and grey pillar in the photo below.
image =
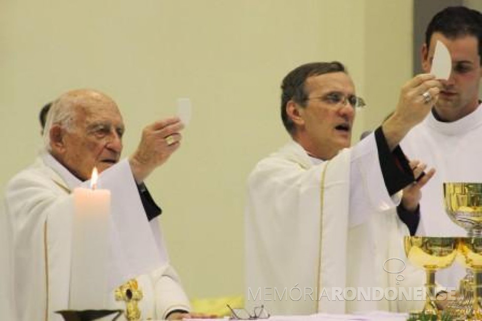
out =
<path fill-rule="evenodd" d="M 366 0 L 364 125 L 376 128 L 394 110 L 400 88 L 412 77 L 412 1 Z"/>

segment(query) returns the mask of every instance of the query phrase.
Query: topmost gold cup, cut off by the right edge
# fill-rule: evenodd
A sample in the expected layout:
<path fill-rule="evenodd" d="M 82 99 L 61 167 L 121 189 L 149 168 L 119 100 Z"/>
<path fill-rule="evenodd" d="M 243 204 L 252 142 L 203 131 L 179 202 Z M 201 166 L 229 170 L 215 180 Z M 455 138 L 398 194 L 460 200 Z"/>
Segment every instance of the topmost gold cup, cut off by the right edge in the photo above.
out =
<path fill-rule="evenodd" d="M 469 237 L 482 236 L 482 183 L 444 183 L 445 210 Z"/>

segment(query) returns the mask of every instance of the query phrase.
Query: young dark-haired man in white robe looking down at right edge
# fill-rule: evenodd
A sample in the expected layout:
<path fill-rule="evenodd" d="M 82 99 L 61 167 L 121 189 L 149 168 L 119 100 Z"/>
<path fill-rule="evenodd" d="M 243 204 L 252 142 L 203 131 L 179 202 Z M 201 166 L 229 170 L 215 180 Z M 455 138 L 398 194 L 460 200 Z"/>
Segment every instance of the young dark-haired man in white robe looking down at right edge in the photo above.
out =
<path fill-rule="evenodd" d="M 423 197 L 412 199 L 415 210 L 420 201 L 421 220 L 417 235 L 466 236 L 451 221 L 444 208 L 443 183 L 482 182 L 482 107 L 479 85 L 482 76 L 482 14 L 463 6 L 438 12 L 425 31 L 422 68 L 429 72 L 435 44 L 441 41 L 452 58 L 448 80 L 441 80 L 439 99 L 429 115 L 402 140 L 409 157 L 422 159 L 437 169 L 423 189 Z M 437 272 L 437 282 L 457 287 L 465 269 L 457 262 Z"/>

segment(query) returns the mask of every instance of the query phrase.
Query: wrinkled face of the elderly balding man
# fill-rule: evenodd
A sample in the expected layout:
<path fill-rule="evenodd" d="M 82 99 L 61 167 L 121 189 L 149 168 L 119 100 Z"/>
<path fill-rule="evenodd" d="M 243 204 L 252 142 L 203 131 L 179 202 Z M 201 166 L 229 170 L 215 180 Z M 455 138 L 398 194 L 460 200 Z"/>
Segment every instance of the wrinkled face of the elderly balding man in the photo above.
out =
<path fill-rule="evenodd" d="M 101 173 L 119 162 L 122 151 L 124 124 L 117 105 L 94 98 L 76 107 L 73 131 L 63 130 L 61 146 L 53 147 L 60 163 L 82 180 L 90 179 L 94 166 Z"/>

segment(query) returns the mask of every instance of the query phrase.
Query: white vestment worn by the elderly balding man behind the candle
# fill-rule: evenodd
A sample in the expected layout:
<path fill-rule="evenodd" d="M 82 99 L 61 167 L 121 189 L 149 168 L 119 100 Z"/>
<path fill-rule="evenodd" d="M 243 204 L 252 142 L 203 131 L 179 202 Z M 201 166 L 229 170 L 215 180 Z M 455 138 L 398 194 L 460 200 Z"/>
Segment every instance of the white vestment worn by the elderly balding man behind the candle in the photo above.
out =
<path fill-rule="evenodd" d="M 14 297 L 17 320 L 62 320 L 69 308 L 73 196 L 81 182 L 50 154 L 13 177 L 5 209 L 13 232 Z M 144 298 L 142 318 L 161 319 L 188 300 L 167 252 L 157 219 L 148 221 L 127 160 L 102 172 L 99 187 L 111 191 L 109 288 L 105 309 L 125 309 L 114 289 L 137 278 Z M 96 307 L 97 308 L 97 307 Z"/>

